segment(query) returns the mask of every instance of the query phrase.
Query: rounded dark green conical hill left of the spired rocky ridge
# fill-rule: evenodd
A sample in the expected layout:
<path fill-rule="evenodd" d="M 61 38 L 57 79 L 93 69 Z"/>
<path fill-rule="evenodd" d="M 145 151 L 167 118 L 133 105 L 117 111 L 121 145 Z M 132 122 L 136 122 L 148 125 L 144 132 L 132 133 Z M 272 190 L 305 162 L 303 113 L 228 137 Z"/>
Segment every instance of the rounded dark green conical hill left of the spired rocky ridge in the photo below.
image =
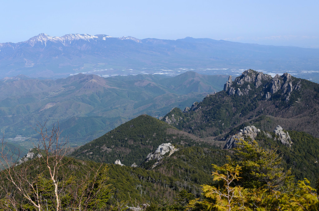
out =
<path fill-rule="evenodd" d="M 168 133 L 168 129 L 175 130 L 176 133 Z M 133 163 L 141 164 L 146 156 L 160 144 L 169 142 L 187 146 L 211 145 L 198 142 L 187 135 L 178 134 L 174 127 L 163 121 L 148 115 L 141 115 L 85 144 L 74 151 L 71 156 L 105 163 L 114 163 L 119 159 L 122 164 L 130 166 Z"/>

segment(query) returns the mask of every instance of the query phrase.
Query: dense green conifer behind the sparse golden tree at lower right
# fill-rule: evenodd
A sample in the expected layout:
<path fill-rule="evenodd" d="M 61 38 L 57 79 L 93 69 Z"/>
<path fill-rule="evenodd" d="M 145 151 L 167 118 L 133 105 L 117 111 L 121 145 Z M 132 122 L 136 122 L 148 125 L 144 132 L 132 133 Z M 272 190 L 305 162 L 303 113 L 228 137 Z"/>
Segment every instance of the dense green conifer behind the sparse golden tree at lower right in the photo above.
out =
<path fill-rule="evenodd" d="M 252 143 L 240 140 L 237 144 L 236 160 L 233 165 L 242 167 L 241 186 L 246 188 L 267 188 L 289 192 L 293 183 L 291 171 L 284 171 L 281 157 L 276 150 L 266 150 Z"/>

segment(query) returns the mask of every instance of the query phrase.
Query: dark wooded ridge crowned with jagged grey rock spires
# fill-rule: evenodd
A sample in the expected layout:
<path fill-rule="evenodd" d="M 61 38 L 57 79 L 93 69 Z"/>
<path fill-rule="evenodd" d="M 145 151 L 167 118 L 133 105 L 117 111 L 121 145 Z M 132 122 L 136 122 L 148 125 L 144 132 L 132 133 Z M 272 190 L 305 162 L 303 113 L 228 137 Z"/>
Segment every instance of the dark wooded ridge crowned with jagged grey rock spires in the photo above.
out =
<path fill-rule="evenodd" d="M 174 109 L 164 120 L 188 133 L 224 141 L 225 135 L 236 132 L 234 128 L 247 125 L 267 131 L 281 125 L 319 137 L 319 84 L 288 73 L 271 77 L 249 69 L 234 80 L 229 76 L 223 91 L 184 111 Z"/>

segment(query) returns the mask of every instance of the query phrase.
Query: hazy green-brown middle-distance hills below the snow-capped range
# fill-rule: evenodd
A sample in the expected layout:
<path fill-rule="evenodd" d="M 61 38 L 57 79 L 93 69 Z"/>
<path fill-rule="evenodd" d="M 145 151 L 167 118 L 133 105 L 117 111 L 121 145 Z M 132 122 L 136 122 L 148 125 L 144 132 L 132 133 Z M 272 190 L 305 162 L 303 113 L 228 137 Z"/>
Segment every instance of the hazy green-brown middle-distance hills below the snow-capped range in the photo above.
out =
<path fill-rule="evenodd" d="M 72 146 L 93 140 L 143 113 L 163 116 L 223 89 L 226 75 L 195 72 L 169 77 L 137 75 L 100 77 L 78 74 L 39 80 L 24 75 L 0 80 L 0 130 L 12 142 L 27 145 L 37 122 L 59 120 Z M 22 138 L 25 140 L 26 138 Z M 34 141 L 34 140 L 33 140 Z M 29 144 L 29 145 L 28 145 Z"/>

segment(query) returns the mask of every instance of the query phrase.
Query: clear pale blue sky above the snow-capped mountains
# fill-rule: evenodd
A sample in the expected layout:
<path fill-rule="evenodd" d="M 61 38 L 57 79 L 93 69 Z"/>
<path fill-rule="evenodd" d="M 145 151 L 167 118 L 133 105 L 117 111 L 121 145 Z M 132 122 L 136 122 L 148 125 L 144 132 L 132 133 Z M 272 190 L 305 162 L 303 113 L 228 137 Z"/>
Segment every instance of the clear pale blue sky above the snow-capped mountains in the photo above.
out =
<path fill-rule="evenodd" d="M 2 1 L 0 43 L 46 33 L 319 48 L 319 1 Z"/>

